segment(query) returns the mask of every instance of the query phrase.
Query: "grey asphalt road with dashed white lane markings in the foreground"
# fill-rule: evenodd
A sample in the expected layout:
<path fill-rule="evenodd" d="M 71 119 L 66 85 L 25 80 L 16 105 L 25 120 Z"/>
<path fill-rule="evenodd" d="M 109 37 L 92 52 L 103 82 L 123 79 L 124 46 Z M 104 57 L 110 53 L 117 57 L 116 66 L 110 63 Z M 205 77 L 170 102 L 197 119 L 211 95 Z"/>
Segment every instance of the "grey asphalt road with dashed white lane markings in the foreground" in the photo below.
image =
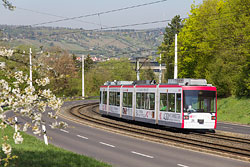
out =
<path fill-rule="evenodd" d="M 86 101 L 87 102 L 87 101 Z M 79 103 L 79 102 L 76 102 Z M 72 104 L 66 103 L 66 105 Z M 9 113 L 11 114 L 11 113 Z M 46 121 L 47 118 L 45 118 Z M 249 167 L 250 163 L 117 135 L 64 120 L 71 128 L 47 126 L 50 143 L 119 167 Z M 19 118 L 22 122 L 22 118 Z"/>

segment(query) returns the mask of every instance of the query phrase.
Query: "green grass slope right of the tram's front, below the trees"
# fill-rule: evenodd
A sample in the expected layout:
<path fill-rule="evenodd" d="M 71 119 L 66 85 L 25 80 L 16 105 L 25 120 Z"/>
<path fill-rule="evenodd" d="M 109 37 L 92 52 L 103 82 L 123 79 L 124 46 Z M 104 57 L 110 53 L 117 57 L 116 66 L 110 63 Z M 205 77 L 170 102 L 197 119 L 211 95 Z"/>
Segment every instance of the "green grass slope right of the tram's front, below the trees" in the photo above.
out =
<path fill-rule="evenodd" d="M 218 120 L 250 125 L 250 99 L 218 99 Z"/>

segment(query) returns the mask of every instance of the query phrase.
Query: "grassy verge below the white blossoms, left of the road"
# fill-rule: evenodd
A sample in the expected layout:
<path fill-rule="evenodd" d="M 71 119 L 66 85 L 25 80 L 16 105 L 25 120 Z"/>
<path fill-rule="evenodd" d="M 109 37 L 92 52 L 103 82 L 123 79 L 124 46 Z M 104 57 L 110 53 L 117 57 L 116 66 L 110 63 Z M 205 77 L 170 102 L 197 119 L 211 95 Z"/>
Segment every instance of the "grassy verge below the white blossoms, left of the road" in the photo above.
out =
<path fill-rule="evenodd" d="M 2 143 L 2 131 L 0 131 L 0 143 Z M 8 127 L 5 130 L 5 135 L 12 136 L 13 128 Z M 11 160 L 10 167 L 108 167 L 108 164 L 99 162 L 95 159 L 75 154 L 70 151 L 63 150 L 53 145 L 46 146 L 42 141 L 33 136 L 22 133 L 23 144 L 14 144 L 10 137 L 9 141 L 12 145 L 12 155 L 17 155 L 19 158 Z M 2 145 L 0 145 L 0 149 Z M 0 151 L 0 157 L 5 155 Z M 3 164 L 0 163 L 2 167 Z"/>

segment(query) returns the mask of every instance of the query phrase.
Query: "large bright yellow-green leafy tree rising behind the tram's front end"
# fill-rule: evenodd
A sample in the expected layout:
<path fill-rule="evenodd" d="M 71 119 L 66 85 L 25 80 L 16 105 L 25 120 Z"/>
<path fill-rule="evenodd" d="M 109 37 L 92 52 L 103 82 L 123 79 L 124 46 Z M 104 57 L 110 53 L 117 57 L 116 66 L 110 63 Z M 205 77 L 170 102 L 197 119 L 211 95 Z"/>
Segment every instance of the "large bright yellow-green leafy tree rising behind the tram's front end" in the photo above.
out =
<path fill-rule="evenodd" d="M 250 0 L 207 0 L 192 5 L 178 36 L 178 76 L 206 78 L 221 97 L 245 96 L 249 92 L 245 78 L 249 74 L 249 13 Z M 245 86 L 239 91 L 240 81 Z"/>

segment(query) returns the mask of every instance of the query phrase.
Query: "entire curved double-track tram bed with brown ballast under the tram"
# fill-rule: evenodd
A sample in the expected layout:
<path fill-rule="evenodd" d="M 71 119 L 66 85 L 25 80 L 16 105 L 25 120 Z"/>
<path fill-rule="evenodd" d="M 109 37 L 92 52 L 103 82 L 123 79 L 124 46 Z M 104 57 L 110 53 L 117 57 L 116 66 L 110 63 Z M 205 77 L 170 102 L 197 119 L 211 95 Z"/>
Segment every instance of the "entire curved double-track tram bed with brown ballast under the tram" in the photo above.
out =
<path fill-rule="evenodd" d="M 129 132 L 137 136 L 143 136 L 147 140 L 159 143 L 170 143 L 182 148 L 195 148 L 209 153 L 217 153 L 231 158 L 246 160 L 250 162 L 250 141 L 247 138 L 218 134 L 176 134 L 173 132 L 145 128 L 138 125 L 131 125 L 125 122 L 116 121 L 101 117 L 96 111 L 98 103 L 88 103 L 72 107 L 70 114 L 84 121 L 94 123 L 101 127 Z"/>

